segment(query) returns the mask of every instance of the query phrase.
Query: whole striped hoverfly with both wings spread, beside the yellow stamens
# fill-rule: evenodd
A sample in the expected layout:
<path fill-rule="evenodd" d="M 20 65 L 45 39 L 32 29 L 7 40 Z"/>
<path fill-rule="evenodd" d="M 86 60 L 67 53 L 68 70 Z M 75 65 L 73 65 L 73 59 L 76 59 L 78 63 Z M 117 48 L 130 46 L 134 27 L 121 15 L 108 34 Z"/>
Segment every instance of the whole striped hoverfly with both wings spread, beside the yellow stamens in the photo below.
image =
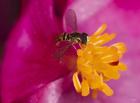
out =
<path fill-rule="evenodd" d="M 56 45 L 58 46 L 61 42 L 69 42 L 69 44 L 65 47 L 59 48 L 59 52 L 57 52 L 57 58 L 62 57 L 65 52 L 70 48 L 74 47 L 75 44 L 79 45 L 86 45 L 87 43 L 87 33 L 80 33 L 77 32 L 77 17 L 76 13 L 72 9 L 68 9 L 64 16 L 64 29 L 65 31 L 70 32 L 63 32 L 56 38 Z M 76 49 L 76 48 L 75 48 Z"/>

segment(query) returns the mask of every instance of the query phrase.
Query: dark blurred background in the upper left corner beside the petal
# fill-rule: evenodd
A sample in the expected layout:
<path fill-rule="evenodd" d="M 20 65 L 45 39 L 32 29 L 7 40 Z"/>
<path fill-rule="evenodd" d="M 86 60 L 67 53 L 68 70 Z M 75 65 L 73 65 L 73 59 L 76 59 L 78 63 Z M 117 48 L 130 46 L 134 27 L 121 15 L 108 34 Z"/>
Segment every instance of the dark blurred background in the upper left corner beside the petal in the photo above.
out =
<path fill-rule="evenodd" d="M 19 18 L 20 10 L 20 0 L 0 0 L 0 49 Z"/>

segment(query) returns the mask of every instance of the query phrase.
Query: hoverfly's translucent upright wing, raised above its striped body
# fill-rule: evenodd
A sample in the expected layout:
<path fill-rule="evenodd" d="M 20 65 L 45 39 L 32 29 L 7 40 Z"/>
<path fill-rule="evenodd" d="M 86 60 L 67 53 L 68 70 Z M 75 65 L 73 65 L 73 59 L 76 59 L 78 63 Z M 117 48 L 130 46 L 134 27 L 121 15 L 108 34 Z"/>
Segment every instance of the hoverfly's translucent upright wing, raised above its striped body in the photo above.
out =
<path fill-rule="evenodd" d="M 68 9 L 64 15 L 64 29 L 67 32 L 77 31 L 77 17 L 72 9 Z"/>

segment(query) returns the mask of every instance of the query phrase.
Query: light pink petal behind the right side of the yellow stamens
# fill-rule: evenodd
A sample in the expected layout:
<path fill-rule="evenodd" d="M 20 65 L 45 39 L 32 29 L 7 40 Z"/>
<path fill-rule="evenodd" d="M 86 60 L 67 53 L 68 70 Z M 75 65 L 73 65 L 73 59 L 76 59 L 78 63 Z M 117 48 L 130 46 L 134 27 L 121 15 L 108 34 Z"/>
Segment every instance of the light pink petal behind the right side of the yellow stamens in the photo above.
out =
<path fill-rule="evenodd" d="M 121 3 L 118 5 L 117 2 Z M 82 2 L 82 1 L 81 1 Z M 81 3 L 79 1 L 79 4 Z M 84 2 L 84 0 L 83 0 Z M 100 2 L 102 7 L 97 6 Z M 115 0 L 110 2 L 94 1 L 95 11 L 90 16 L 85 16 L 85 18 L 80 18 L 84 16 L 82 11 L 86 11 L 87 14 L 90 14 L 90 10 L 93 10 L 92 7 L 87 7 L 80 5 L 76 7 L 76 4 L 71 5 L 71 8 L 74 8 L 78 13 L 79 20 L 79 31 L 85 31 L 87 33 L 92 33 L 97 27 L 102 23 L 108 24 L 107 31 L 112 33 L 117 33 L 116 41 L 123 41 L 128 47 L 128 51 L 123 58 L 123 61 L 127 64 L 128 70 L 122 73 L 122 78 L 118 81 L 111 81 L 110 85 L 115 91 L 115 95 L 112 97 L 99 96 L 96 100 L 97 103 L 139 103 L 139 85 L 140 85 L 140 76 L 139 76 L 139 61 L 140 61 L 140 3 L 134 1 L 126 1 L 127 3 L 122 3 L 121 0 Z M 92 3 L 89 2 L 91 5 Z M 84 4 L 84 3 L 83 3 Z M 104 4 L 104 5 L 103 5 Z M 132 5 L 133 6 L 132 6 Z M 137 6 L 139 4 L 139 6 Z M 78 5 L 78 4 L 77 4 Z M 78 8 L 79 7 L 79 8 Z M 82 7 L 80 9 L 80 7 Z M 84 8 L 85 7 L 85 8 Z M 127 9 L 126 9 L 127 7 Z M 137 9 L 136 9 L 137 7 Z M 89 10 L 90 8 L 90 10 Z M 68 95 L 68 93 L 67 93 Z M 71 97 L 69 93 L 70 99 Z M 65 96 L 65 95 L 64 95 Z M 76 101 L 76 100 L 75 100 Z M 79 100 L 81 102 L 81 100 Z M 78 100 L 74 103 L 78 103 Z M 82 99 L 83 101 L 83 99 Z M 95 101 L 94 101 L 95 102 Z M 95 103 L 96 103 L 95 102 Z M 62 102 L 60 102 L 62 103 Z"/>

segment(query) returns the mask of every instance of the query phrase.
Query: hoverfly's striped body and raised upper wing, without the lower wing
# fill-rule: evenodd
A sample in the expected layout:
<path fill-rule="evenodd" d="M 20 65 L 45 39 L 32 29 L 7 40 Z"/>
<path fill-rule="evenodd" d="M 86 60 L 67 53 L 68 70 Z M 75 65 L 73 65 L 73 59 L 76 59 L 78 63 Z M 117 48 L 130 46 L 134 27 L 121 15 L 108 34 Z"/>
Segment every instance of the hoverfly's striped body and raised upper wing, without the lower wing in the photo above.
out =
<path fill-rule="evenodd" d="M 77 31 L 77 18 L 76 18 L 76 13 L 72 9 L 68 9 L 65 17 L 64 17 L 64 25 L 65 29 L 70 29 L 72 32 L 64 32 L 60 34 L 56 41 L 57 43 L 62 42 L 62 41 L 69 41 L 71 44 L 86 44 L 87 43 L 87 37 L 88 34 L 86 33 L 79 33 Z M 66 30 L 68 31 L 68 30 Z"/>

